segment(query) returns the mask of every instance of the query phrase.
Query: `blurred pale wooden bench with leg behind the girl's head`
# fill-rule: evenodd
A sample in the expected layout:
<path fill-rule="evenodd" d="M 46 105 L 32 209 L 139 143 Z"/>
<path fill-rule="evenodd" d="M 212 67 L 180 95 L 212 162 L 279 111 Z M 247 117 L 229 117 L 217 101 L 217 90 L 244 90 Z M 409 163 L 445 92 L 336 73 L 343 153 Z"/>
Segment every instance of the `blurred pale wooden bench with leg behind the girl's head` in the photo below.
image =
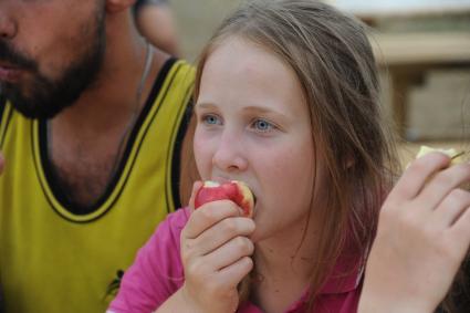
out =
<path fill-rule="evenodd" d="M 470 33 L 377 33 L 370 42 L 379 69 L 389 74 L 391 111 L 401 136 L 408 122 L 410 86 L 421 82 L 429 70 L 470 70 Z"/>

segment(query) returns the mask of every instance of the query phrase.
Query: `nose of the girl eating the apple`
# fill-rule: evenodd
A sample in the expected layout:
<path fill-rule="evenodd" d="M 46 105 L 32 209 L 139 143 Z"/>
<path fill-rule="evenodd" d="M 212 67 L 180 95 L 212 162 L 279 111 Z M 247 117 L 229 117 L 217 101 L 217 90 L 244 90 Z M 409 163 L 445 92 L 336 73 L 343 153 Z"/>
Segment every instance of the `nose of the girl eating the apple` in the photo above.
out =
<path fill-rule="evenodd" d="M 212 157 L 212 165 L 223 171 L 244 170 L 248 168 L 248 160 L 240 136 L 229 133 L 221 135 Z"/>

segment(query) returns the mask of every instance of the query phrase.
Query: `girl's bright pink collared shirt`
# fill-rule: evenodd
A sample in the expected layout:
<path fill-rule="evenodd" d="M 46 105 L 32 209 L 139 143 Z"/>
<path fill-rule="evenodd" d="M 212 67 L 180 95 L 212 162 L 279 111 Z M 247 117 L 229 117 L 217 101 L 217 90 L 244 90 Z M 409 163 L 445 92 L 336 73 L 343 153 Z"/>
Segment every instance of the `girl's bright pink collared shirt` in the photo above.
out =
<path fill-rule="evenodd" d="M 157 231 L 138 251 L 134 264 L 124 274 L 119 292 L 111 303 L 115 313 L 154 312 L 184 283 L 184 269 L 179 257 L 179 237 L 189 218 L 187 209 L 170 213 Z M 334 272 L 345 272 L 347 263 L 338 263 Z M 346 271 L 347 272 L 347 271 Z M 349 271 L 351 272 L 351 271 Z M 315 302 L 315 313 L 355 313 L 361 294 L 361 271 L 332 275 Z M 305 313 L 306 293 L 285 313 Z M 252 303 L 238 313 L 262 313 Z"/>

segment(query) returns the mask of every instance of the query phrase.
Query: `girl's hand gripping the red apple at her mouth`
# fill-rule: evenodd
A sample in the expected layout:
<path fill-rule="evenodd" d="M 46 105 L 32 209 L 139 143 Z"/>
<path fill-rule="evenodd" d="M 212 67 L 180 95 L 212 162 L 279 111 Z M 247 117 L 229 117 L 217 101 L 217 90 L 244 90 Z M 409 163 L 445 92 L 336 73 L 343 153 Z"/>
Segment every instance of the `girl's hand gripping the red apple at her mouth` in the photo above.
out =
<path fill-rule="evenodd" d="M 191 207 L 198 186 L 192 190 Z M 181 292 L 194 312 L 237 310 L 237 285 L 253 267 L 250 255 L 254 246 L 248 238 L 253 231 L 253 220 L 242 217 L 241 209 L 229 200 L 209 202 L 192 211 L 181 232 Z"/>

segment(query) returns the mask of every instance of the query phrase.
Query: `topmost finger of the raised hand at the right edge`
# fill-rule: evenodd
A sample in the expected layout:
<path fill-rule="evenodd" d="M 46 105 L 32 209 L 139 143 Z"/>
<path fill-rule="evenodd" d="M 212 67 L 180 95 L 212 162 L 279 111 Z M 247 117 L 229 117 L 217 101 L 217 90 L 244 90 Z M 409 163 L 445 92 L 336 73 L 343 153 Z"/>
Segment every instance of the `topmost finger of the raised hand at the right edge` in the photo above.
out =
<path fill-rule="evenodd" d="M 449 163 L 450 158 L 441 153 L 429 153 L 414 160 L 390 191 L 389 201 L 399 202 L 415 198 L 429 177 L 449 166 Z"/>

